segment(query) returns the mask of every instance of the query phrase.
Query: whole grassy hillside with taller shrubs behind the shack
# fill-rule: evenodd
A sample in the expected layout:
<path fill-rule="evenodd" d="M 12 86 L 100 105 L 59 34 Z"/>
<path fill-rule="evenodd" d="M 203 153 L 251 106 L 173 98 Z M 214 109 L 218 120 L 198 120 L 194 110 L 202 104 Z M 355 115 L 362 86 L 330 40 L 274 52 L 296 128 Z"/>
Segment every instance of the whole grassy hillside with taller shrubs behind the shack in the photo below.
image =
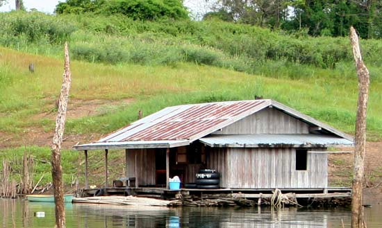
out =
<path fill-rule="evenodd" d="M 283 35 L 217 21 L 144 23 L 18 12 L 0 13 L 0 26 L 0 146 L 6 148 L 0 159 L 13 159 L 15 164 L 24 150 L 49 159 L 64 40 L 69 40 L 72 57 L 72 111 L 97 103 L 87 106 L 86 114 L 69 116 L 65 134 L 74 139 L 65 148 L 135 121 L 140 109 L 146 116 L 169 105 L 255 96 L 278 100 L 354 133 L 357 78 L 344 38 Z M 367 137 L 379 140 L 382 42 L 363 41 L 362 48 L 372 77 Z M 28 71 L 31 62 L 35 73 Z M 112 154 L 116 160 L 123 156 Z M 97 174 L 103 158 L 98 152 L 90 156 Z M 67 183 L 82 172 L 77 169 L 82 159 L 63 152 Z M 37 162 L 35 179 L 50 170 Z M 113 175 L 122 175 L 123 167 L 113 168 Z"/>

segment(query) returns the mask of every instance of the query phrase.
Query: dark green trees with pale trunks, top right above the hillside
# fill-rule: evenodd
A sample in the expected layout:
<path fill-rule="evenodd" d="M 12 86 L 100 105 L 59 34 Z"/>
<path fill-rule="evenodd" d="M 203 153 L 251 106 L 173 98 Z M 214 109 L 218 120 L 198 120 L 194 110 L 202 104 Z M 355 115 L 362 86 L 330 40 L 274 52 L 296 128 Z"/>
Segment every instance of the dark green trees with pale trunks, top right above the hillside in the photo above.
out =
<path fill-rule="evenodd" d="M 382 37 L 380 0 L 219 0 L 215 15 L 224 13 L 233 21 L 313 36 L 346 36 L 354 26 L 363 38 Z"/>

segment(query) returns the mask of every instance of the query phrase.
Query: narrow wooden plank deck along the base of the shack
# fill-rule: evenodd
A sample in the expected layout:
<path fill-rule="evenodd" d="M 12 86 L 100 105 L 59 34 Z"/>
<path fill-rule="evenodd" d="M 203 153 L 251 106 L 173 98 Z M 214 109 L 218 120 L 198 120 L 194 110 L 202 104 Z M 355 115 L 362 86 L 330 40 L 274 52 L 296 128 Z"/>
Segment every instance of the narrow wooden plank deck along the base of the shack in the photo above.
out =
<path fill-rule="evenodd" d="M 181 188 L 170 190 L 167 188 L 102 188 L 106 195 L 137 195 L 148 198 L 162 198 L 174 200 L 179 193 L 183 198 L 270 198 L 274 188 L 218 188 L 218 189 L 198 189 Z M 331 188 L 279 188 L 282 193 L 294 193 L 296 198 L 344 198 L 351 196 L 351 188 L 331 187 Z M 99 188 L 83 189 L 83 196 L 93 196 Z"/>

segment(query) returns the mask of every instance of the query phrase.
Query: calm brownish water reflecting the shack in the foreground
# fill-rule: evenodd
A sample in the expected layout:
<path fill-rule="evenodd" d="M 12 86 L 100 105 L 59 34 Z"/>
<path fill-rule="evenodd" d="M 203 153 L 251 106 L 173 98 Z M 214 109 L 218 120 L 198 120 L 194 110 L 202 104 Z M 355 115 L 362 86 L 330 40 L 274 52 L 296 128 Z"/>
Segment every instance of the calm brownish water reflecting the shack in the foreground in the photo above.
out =
<path fill-rule="evenodd" d="M 135 207 L 66 204 L 67 227 L 350 227 L 349 209 Z M 41 213 L 44 211 L 44 217 Z M 37 213 L 37 214 L 36 214 Z M 365 208 L 367 227 L 382 227 L 382 205 Z M 0 199 L 0 227 L 54 227 L 54 204 Z M 341 221 L 342 220 L 342 221 Z"/>

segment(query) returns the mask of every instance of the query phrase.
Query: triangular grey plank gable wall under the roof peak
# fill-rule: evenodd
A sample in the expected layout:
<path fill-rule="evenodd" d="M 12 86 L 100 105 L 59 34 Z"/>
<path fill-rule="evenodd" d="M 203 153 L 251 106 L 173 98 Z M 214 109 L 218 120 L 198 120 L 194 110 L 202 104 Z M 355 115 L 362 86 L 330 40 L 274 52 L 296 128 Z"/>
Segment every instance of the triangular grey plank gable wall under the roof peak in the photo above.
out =
<path fill-rule="evenodd" d="M 266 108 L 213 134 L 308 134 L 309 125 L 278 109 Z"/>

